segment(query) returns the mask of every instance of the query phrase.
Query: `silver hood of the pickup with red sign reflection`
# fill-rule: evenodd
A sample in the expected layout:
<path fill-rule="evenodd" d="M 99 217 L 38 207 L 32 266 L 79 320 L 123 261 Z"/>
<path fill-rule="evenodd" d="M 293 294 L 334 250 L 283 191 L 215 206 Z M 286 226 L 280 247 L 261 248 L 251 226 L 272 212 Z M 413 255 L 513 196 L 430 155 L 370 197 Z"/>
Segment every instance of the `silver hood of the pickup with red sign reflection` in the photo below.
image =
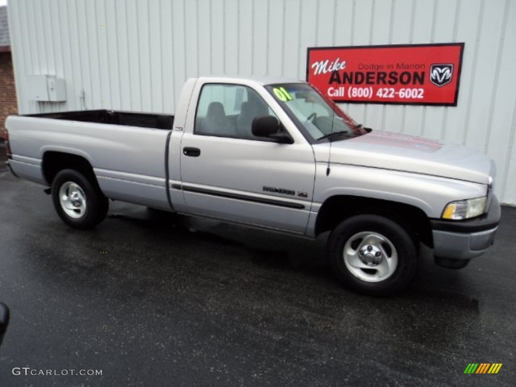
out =
<path fill-rule="evenodd" d="M 332 142 L 331 163 L 424 173 L 480 184 L 488 184 L 491 171 L 491 159 L 472 149 L 381 131 Z"/>

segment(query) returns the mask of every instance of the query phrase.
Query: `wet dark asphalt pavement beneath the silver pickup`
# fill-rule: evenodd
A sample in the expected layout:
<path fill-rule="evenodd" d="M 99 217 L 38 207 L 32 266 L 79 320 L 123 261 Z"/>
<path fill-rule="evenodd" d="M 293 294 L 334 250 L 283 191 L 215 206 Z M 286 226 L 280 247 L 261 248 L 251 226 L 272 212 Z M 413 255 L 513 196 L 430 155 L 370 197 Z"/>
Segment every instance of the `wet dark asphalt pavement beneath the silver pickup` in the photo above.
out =
<path fill-rule="evenodd" d="M 466 268 L 427 257 L 404 293 L 373 298 L 338 284 L 326 236 L 118 202 L 77 231 L 42 188 L 0 171 L 2 387 L 515 385 L 516 208 Z"/>

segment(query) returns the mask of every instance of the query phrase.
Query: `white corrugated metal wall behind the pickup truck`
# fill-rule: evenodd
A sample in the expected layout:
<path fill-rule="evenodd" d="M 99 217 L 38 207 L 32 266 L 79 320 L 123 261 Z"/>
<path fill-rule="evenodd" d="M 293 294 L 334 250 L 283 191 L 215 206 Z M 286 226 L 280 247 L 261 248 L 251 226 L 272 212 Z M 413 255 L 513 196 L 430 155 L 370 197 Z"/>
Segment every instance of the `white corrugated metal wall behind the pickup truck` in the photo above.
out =
<path fill-rule="evenodd" d="M 359 122 L 493 157 L 516 203 L 514 0 L 9 0 L 21 114 L 173 112 L 190 76 L 305 77 L 307 47 L 465 42 L 457 107 L 345 104 Z M 66 103 L 27 99 L 30 74 L 66 79 Z"/>

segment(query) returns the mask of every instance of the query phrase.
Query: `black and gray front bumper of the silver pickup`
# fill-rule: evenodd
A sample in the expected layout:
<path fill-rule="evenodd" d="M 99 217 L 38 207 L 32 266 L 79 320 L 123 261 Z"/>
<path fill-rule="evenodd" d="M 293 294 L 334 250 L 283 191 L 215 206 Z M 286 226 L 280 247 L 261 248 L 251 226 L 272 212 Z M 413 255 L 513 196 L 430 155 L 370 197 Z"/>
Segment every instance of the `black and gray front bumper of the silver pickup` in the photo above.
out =
<path fill-rule="evenodd" d="M 433 254 L 436 258 L 471 260 L 493 244 L 501 209 L 493 196 L 487 214 L 470 220 L 431 220 Z"/>

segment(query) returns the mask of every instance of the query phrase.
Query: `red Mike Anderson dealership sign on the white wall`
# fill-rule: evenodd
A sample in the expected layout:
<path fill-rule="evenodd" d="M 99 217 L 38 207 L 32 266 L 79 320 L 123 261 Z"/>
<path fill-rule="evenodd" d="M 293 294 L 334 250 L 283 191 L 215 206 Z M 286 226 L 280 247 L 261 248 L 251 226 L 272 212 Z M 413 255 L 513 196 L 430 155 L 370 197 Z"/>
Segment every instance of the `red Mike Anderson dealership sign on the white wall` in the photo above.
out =
<path fill-rule="evenodd" d="M 312 47 L 307 80 L 335 102 L 457 106 L 464 43 Z"/>

